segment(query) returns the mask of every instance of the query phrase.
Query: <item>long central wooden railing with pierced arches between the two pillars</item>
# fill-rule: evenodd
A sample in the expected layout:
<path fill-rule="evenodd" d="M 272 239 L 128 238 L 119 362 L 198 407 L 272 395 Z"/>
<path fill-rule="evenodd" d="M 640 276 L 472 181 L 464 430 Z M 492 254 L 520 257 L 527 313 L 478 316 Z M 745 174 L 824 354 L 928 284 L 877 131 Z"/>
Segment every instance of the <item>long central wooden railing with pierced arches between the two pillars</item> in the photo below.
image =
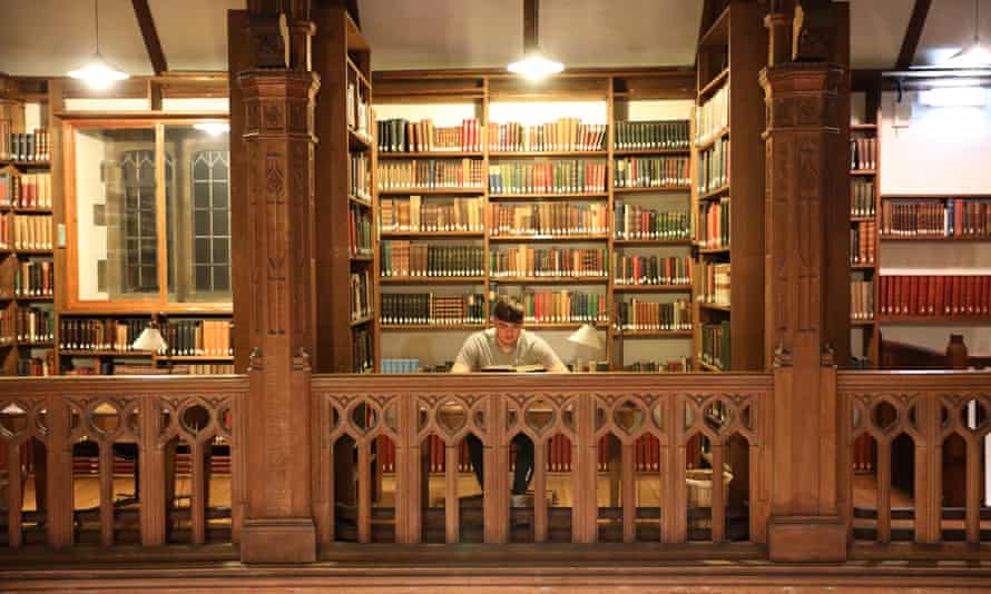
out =
<path fill-rule="evenodd" d="M 322 544 L 766 538 L 766 374 L 323 376 L 313 380 L 313 410 Z M 532 501 L 511 506 L 519 434 L 536 444 Z M 430 474 L 431 435 L 445 444 L 441 476 Z M 468 435 L 483 444 L 483 496 L 465 495 L 477 483 L 459 473 Z M 609 435 L 617 446 L 600 473 Z M 567 473 L 549 472 L 548 456 L 560 455 L 549 452 L 555 436 L 570 445 Z M 648 445 L 658 469 L 637 473 L 636 448 Z M 393 476 L 380 472 L 383 458 Z M 695 476 L 687 468 L 699 463 L 726 472 Z"/>

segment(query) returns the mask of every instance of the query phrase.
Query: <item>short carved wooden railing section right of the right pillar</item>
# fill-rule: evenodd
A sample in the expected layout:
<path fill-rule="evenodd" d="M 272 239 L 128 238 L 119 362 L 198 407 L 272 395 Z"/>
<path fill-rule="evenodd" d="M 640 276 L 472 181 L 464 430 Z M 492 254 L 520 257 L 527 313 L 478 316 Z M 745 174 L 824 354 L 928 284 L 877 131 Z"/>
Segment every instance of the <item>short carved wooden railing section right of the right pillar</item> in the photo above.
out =
<path fill-rule="evenodd" d="M 838 475 L 854 541 L 991 541 L 991 374 L 843 372 L 837 393 L 841 468 L 852 467 L 863 436 L 875 456 L 871 473 Z"/>

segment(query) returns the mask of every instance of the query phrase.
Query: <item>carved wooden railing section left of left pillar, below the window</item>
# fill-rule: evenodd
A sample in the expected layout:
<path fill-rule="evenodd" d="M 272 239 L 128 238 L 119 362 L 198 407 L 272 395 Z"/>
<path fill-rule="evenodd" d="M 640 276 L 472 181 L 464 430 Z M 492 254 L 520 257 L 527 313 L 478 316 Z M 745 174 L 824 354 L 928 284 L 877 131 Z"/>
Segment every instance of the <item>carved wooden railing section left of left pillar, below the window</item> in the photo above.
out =
<path fill-rule="evenodd" d="M 246 378 L 235 376 L 0 380 L 2 539 L 57 548 L 236 542 L 246 394 Z M 222 448 L 229 451 L 229 496 L 212 505 L 210 457 Z M 80 475 L 73 461 L 91 456 L 95 472 Z M 121 467 L 134 474 L 121 476 Z M 26 492 L 35 499 L 28 512 Z"/>

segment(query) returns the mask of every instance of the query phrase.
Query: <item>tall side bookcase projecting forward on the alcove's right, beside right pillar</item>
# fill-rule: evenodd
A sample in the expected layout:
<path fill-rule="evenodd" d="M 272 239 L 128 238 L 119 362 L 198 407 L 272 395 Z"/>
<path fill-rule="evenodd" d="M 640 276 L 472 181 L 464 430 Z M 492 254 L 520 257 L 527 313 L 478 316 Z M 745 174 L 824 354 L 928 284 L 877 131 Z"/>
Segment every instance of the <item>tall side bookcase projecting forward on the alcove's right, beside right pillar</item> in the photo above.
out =
<path fill-rule="evenodd" d="M 706 265 L 732 268 L 729 307 L 696 300 L 695 363 L 705 370 L 761 370 L 764 360 L 764 93 L 754 81 L 767 62 L 767 31 L 758 4 L 730 1 L 706 16 L 698 41 L 696 133 L 693 142 L 693 211 L 700 232 L 706 208 L 732 206 L 728 246 L 697 250 L 696 295 L 701 295 Z M 726 90 L 729 91 L 725 99 Z M 716 109 L 715 106 L 724 106 Z M 728 143 L 728 146 L 727 146 Z M 725 155 L 723 155 L 725 154 Z M 720 158 L 720 155 L 724 158 Z M 709 166 L 714 162 L 714 166 Z M 720 171 L 732 164 L 730 174 Z M 707 171 L 717 175 L 709 177 Z M 720 182 L 725 177 L 726 182 Z M 701 182 L 705 181 L 703 186 Z M 727 198 L 732 198 L 726 201 Z M 710 206 L 706 206 L 710 205 Z M 725 205 L 725 206 L 724 206 Z M 725 235 L 725 234 L 724 234 Z M 704 237 L 696 237 L 705 245 Z M 730 365 L 703 362 L 705 325 L 730 334 Z"/>

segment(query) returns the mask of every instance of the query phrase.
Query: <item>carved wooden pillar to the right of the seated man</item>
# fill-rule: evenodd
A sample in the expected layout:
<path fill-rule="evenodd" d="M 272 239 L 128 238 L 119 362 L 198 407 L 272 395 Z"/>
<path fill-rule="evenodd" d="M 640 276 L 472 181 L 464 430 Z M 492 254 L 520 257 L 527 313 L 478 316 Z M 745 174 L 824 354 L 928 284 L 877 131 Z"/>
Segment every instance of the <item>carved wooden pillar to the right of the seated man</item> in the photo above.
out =
<path fill-rule="evenodd" d="M 823 24 L 820 17 L 806 14 L 805 23 Z M 772 43 L 782 42 L 774 37 Z M 803 43 L 830 40 L 821 30 L 796 37 Z M 821 55 L 823 48 L 815 50 Z M 781 52 L 773 48 L 769 55 Z M 798 49 L 793 56 L 805 59 Z M 773 561 L 846 558 L 836 492 L 838 407 L 830 346 L 832 328 L 845 320 L 830 319 L 828 307 L 831 299 L 845 299 L 848 290 L 846 284 L 830 283 L 828 269 L 831 242 L 846 241 L 831 212 L 837 200 L 846 204 L 836 182 L 846 179 L 840 140 L 845 113 L 841 103 L 850 100 L 845 80 L 845 67 L 828 61 L 773 63 L 761 72 L 767 113 L 765 357 L 773 360 L 775 398 L 768 524 Z"/>

